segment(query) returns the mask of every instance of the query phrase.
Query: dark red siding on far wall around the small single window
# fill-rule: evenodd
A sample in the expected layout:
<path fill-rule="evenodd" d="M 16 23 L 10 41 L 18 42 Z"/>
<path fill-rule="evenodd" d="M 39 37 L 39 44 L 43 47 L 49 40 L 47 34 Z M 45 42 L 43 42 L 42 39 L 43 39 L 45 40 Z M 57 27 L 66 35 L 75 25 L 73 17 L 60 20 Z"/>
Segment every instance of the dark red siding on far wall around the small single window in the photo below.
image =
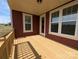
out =
<path fill-rule="evenodd" d="M 13 17 L 13 28 L 15 31 L 15 37 L 24 37 L 28 35 L 36 35 L 39 34 L 39 16 L 33 16 L 33 32 L 23 33 L 23 17 L 22 12 L 12 10 Z"/>

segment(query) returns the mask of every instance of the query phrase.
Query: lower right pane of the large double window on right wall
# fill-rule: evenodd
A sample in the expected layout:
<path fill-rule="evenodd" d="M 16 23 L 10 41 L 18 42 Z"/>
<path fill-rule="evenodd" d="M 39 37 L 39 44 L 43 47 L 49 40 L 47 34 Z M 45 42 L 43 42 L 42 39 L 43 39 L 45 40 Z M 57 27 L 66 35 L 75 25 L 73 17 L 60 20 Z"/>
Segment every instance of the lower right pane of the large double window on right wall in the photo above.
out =
<path fill-rule="evenodd" d="M 63 22 L 62 23 L 62 33 L 74 35 L 75 34 L 75 25 L 76 21 Z"/>

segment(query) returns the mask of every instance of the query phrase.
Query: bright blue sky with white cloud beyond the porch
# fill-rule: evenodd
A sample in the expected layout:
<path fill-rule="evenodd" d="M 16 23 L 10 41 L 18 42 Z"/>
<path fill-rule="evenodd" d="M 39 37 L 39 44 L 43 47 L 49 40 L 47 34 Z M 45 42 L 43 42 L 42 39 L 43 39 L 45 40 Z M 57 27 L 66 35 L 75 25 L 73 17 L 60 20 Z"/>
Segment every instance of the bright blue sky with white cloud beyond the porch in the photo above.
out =
<path fill-rule="evenodd" d="M 7 0 L 0 0 L 0 24 L 11 22 L 10 9 Z"/>

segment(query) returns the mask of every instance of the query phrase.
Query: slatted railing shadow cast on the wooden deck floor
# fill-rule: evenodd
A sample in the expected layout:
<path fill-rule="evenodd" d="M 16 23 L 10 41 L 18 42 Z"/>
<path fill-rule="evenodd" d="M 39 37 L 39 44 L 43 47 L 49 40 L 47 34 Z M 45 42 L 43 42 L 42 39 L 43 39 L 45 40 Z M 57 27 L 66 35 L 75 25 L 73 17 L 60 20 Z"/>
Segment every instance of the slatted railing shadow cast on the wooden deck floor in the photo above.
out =
<path fill-rule="evenodd" d="M 14 59 L 41 59 L 41 56 L 28 41 L 15 45 Z"/>

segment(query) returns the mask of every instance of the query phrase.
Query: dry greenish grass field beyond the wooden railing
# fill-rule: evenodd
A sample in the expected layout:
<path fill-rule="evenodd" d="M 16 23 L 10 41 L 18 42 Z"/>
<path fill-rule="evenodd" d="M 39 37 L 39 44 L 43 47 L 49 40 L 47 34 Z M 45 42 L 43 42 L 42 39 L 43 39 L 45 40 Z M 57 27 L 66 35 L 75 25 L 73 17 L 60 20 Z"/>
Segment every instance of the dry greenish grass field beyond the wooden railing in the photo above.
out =
<path fill-rule="evenodd" d="M 10 25 L 1 25 L 0 24 L 0 37 L 6 35 L 12 30 L 12 27 Z"/>

